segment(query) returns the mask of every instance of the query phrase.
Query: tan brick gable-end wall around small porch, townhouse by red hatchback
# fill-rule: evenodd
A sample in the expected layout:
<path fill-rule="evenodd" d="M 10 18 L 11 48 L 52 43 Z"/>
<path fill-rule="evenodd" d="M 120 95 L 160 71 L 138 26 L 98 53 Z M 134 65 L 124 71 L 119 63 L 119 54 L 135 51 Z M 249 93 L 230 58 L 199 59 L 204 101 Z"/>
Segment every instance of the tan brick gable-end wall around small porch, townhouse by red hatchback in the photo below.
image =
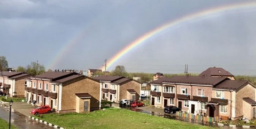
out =
<path fill-rule="evenodd" d="M 75 93 L 89 93 L 91 97 L 90 110 L 99 109 L 100 83 L 81 76 L 62 83 L 61 110 L 75 110 Z"/>

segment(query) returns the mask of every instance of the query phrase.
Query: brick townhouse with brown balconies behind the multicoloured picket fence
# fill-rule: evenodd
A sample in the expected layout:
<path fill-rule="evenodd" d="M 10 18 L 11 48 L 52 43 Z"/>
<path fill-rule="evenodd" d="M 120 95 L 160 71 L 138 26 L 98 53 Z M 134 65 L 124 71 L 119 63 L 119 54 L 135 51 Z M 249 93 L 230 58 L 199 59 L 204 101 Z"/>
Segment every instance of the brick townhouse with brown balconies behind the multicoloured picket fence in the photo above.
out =
<path fill-rule="evenodd" d="M 191 114 L 236 120 L 255 118 L 255 85 L 228 77 L 174 76 L 151 83 L 151 104 L 176 106 Z"/>

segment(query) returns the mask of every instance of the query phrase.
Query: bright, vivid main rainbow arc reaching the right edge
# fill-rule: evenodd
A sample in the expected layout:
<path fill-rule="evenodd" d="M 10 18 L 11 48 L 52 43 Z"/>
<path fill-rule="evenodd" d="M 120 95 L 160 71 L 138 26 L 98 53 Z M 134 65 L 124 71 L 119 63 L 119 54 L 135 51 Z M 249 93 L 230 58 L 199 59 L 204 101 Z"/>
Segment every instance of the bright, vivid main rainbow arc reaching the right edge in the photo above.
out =
<path fill-rule="evenodd" d="M 134 40 L 133 42 L 129 43 L 125 48 L 120 50 L 117 54 L 115 54 L 107 63 L 107 67 L 110 67 L 113 65 L 113 63 L 117 62 L 118 59 L 120 59 L 123 55 L 125 55 L 127 52 L 138 46 L 139 44 L 144 43 L 146 40 L 151 38 L 154 35 L 159 34 L 159 32 L 164 31 L 167 28 L 174 27 L 177 25 L 180 25 L 181 23 L 191 21 L 196 18 L 201 18 L 201 17 L 207 17 L 210 16 L 211 14 L 216 14 L 216 13 L 222 13 L 227 10 L 235 10 L 235 9 L 240 9 L 240 8 L 252 8 L 256 7 L 256 2 L 248 2 L 248 3 L 238 3 L 238 4 L 231 4 L 231 5 L 226 5 L 226 6 L 220 6 L 217 8 L 212 8 L 208 10 L 203 10 L 201 12 L 193 13 L 186 15 L 184 17 L 175 19 L 174 21 L 171 21 L 169 23 L 166 23 L 162 26 L 159 26 L 155 28 L 154 30 L 151 30 L 147 32 L 146 34 L 142 35 L 138 39 Z M 101 67 L 101 70 L 104 70 L 105 67 Z"/>

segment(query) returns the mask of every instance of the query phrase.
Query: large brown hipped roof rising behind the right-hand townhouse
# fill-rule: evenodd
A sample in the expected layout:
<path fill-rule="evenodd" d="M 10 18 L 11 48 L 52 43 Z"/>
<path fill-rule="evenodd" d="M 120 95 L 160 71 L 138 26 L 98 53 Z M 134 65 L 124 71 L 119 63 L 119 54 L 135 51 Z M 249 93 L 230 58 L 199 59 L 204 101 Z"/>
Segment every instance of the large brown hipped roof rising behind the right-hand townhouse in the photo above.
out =
<path fill-rule="evenodd" d="M 223 68 L 210 67 L 207 70 L 203 71 L 199 76 L 211 77 L 211 76 L 234 76 L 229 71 L 224 70 Z"/>

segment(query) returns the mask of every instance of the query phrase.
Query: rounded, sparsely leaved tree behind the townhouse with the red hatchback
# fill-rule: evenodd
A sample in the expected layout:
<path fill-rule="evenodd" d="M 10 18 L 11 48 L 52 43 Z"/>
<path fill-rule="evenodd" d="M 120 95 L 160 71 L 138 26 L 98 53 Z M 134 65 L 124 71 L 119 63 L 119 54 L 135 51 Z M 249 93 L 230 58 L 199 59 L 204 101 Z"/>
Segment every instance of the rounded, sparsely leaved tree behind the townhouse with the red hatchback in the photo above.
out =
<path fill-rule="evenodd" d="M 40 65 L 37 62 L 31 62 L 31 65 L 27 65 L 26 69 L 27 73 L 33 76 L 45 73 L 44 65 Z"/>

